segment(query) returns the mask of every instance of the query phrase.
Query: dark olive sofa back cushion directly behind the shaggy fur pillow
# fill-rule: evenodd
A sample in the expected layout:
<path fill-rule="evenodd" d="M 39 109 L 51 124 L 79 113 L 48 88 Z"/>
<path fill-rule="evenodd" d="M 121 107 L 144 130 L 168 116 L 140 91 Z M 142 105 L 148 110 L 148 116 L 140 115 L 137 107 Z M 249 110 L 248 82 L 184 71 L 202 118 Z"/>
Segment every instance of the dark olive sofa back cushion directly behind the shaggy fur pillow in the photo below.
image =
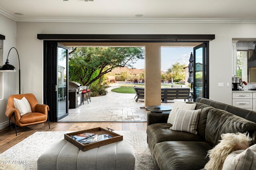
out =
<path fill-rule="evenodd" d="M 250 136 L 256 130 L 256 123 L 248 121 L 220 109 L 211 109 L 207 116 L 205 140 L 213 146 L 217 145 L 223 133 L 245 133 Z"/>

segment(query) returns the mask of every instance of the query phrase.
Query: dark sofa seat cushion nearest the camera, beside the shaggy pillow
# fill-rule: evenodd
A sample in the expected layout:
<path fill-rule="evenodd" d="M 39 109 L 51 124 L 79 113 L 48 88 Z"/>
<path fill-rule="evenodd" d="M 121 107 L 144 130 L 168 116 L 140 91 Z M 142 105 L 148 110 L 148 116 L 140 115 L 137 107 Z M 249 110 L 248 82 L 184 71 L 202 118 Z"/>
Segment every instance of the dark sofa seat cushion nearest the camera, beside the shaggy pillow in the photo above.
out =
<path fill-rule="evenodd" d="M 161 142 L 154 148 L 154 157 L 161 170 L 199 170 L 208 162 L 210 149 L 206 142 Z"/>

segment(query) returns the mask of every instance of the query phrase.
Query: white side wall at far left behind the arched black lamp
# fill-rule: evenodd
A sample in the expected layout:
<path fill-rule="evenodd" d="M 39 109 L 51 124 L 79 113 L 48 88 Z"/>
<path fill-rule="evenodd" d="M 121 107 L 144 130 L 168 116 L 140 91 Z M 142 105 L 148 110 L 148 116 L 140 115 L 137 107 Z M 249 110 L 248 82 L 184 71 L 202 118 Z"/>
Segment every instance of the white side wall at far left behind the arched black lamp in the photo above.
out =
<path fill-rule="evenodd" d="M 3 55 L 1 59 L 1 65 L 6 62 L 7 55 L 11 47 L 16 47 L 16 22 L 0 14 L 0 34 L 5 36 L 3 41 Z M 18 49 L 19 50 L 19 49 Z M 12 49 L 9 55 L 10 64 L 14 65 L 18 69 L 18 57 L 15 49 Z M 0 99 L 0 129 L 8 126 L 8 117 L 5 115 L 6 105 L 8 97 L 12 94 L 17 94 L 18 90 L 18 71 L 16 72 L 2 72 L 3 85 L 3 98 Z M 17 85 L 16 85 L 17 84 Z"/>

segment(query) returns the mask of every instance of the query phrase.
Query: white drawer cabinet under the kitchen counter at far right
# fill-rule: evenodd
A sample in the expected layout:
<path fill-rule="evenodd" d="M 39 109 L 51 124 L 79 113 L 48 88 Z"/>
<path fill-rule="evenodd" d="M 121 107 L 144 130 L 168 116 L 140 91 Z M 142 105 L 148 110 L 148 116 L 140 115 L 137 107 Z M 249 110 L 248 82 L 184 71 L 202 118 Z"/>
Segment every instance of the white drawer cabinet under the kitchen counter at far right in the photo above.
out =
<path fill-rule="evenodd" d="M 232 93 L 232 105 L 256 111 L 256 93 Z"/>

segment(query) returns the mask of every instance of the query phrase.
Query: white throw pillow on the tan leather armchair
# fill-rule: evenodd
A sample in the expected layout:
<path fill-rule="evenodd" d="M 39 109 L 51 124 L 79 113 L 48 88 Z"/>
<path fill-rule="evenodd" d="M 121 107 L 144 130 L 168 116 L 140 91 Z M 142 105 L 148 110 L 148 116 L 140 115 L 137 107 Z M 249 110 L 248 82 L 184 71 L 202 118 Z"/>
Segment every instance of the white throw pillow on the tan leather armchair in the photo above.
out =
<path fill-rule="evenodd" d="M 21 100 L 14 98 L 14 107 L 20 112 L 20 116 L 31 113 L 31 107 L 28 100 L 23 97 Z"/>

